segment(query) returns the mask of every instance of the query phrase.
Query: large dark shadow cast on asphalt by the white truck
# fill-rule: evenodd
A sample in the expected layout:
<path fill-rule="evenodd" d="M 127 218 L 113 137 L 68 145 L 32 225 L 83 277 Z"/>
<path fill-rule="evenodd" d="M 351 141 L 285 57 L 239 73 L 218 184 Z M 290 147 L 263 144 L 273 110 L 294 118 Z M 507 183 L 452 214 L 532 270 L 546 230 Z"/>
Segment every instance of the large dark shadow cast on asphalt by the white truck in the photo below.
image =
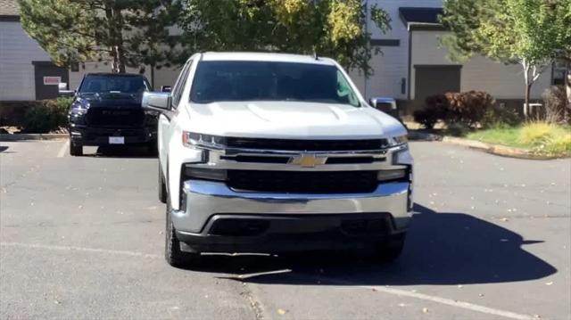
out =
<path fill-rule="evenodd" d="M 207 256 L 202 270 L 246 283 L 407 285 L 505 283 L 552 275 L 555 267 L 527 252 L 524 240 L 502 226 L 463 213 L 437 213 L 415 205 L 405 249 L 382 265 L 334 254 Z M 291 272 L 271 273 L 289 269 Z M 257 274 L 257 275 L 255 275 Z M 331 280 L 334 280 L 333 282 Z M 339 283 L 337 283 L 337 281 Z"/>

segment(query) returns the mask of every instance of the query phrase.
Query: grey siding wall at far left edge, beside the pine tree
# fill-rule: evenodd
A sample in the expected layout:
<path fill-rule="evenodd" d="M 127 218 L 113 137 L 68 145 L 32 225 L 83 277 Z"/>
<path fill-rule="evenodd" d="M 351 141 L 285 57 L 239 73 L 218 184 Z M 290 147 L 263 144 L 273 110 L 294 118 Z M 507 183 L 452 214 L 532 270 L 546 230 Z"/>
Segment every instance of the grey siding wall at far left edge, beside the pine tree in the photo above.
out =
<path fill-rule="evenodd" d="M 49 62 L 50 58 L 20 22 L 0 21 L 0 101 L 36 98 L 32 61 Z"/>

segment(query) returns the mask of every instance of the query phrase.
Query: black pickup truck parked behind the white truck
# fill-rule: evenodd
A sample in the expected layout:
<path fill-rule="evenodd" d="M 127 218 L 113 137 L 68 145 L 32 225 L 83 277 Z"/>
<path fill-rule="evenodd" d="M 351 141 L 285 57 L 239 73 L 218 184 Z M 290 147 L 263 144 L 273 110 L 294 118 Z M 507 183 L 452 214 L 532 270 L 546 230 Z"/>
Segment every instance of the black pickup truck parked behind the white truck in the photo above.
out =
<path fill-rule="evenodd" d="M 142 144 L 156 153 L 157 114 L 141 100 L 152 91 L 142 75 L 89 73 L 71 104 L 70 154 L 83 155 L 84 145 Z"/>

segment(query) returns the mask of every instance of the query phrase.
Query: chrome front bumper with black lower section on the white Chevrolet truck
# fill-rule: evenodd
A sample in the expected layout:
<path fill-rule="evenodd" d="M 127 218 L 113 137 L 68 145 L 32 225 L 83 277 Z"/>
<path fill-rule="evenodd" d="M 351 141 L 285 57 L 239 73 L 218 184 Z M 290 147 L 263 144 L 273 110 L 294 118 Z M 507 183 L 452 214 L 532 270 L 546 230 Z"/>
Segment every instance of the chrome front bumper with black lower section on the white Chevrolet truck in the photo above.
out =
<path fill-rule="evenodd" d="M 409 186 L 386 183 L 373 193 L 248 193 L 188 180 L 186 209 L 171 217 L 178 239 L 191 250 L 350 249 L 407 230 Z"/>

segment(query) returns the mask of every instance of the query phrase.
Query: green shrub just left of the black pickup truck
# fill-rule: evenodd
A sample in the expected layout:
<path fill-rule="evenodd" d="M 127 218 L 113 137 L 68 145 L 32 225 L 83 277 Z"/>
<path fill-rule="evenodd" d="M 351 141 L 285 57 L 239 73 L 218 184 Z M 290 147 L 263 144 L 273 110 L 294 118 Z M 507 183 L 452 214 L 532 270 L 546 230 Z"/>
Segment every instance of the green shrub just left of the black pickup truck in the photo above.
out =
<path fill-rule="evenodd" d="M 67 126 L 67 115 L 72 98 L 44 100 L 41 105 L 26 111 L 22 121 L 23 132 L 46 134 Z"/>

